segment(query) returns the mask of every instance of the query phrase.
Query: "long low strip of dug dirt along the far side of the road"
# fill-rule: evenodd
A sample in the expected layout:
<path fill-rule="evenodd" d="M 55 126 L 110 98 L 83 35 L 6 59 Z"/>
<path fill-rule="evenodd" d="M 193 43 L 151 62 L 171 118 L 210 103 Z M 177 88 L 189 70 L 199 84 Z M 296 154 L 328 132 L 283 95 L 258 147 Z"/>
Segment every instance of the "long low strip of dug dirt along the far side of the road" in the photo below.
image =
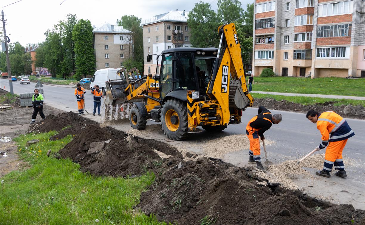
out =
<path fill-rule="evenodd" d="M 339 99 L 338 102 L 341 102 L 341 100 Z M 335 111 L 342 117 L 365 119 L 365 108 L 363 106 L 361 105 L 351 106 L 350 104 L 334 106 L 333 105 L 334 103 L 336 102 L 316 103 L 314 105 L 302 105 L 299 103 L 289 102 L 284 99 L 281 101 L 277 101 L 272 98 L 265 98 L 265 99 L 261 98 L 261 99 L 255 99 L 253 106 L 258 107 L 262 105 L 268 109 L 295 111 L 303 113 L 307 113 L 307 111 L 311 109 L 316 110 L 318 112 Z"/>

